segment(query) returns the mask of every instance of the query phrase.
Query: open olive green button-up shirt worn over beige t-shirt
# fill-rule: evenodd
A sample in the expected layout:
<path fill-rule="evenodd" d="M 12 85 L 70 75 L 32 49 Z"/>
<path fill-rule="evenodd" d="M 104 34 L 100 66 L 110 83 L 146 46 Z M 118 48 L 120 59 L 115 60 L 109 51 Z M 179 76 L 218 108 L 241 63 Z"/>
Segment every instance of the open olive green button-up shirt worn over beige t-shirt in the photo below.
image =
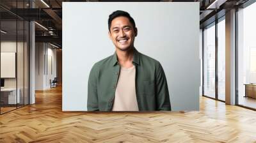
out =
<path fill-rule="evenodd" d="M 161 64 L 134 49 L 135 90 L 140 111 L 171 110 L 168 86 Z M 95 63 L 88 80 L 88 111 L 111 111 L 120 73 L 116 52 Z"/>

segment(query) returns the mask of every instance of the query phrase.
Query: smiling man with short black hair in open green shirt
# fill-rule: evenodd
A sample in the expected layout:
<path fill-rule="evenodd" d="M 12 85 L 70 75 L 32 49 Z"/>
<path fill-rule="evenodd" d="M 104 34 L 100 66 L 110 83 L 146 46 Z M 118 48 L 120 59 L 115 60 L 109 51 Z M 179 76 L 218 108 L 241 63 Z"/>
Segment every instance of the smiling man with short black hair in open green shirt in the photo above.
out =
<path fill-rule="evenodd" d="M 88 111 L 171 110 L 161 64 L 138 52 L 138 29 L 126 11 L 108 19 L 109 38 L 116 52 L 95 63 L 88 80 Z"/>

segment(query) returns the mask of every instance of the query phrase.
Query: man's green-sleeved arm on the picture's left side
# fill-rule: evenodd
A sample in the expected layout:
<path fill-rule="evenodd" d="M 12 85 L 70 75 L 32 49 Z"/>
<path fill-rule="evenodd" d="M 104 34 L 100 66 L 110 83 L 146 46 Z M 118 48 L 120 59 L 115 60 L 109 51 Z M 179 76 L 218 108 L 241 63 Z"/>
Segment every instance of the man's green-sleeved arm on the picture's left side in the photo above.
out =
<path fill-rule="evenodd" d="M 95 64 L 92 67 L 88 80 L 87 110 L 99 110 L 97 93 L 97 66 L 95 66 Z"/>

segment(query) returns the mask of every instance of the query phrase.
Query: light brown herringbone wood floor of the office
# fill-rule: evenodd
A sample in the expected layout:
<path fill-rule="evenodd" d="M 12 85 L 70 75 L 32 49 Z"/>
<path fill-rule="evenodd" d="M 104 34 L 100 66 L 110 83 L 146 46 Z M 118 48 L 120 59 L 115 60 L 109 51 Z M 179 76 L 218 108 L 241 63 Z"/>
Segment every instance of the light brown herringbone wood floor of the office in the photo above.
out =
<path fill-rule="evenodd" d="M 0 142 L 256 142 L 256 112 L 204 97 L 198 112 L 62 112 L 57 87 L 1 115 Z"/>

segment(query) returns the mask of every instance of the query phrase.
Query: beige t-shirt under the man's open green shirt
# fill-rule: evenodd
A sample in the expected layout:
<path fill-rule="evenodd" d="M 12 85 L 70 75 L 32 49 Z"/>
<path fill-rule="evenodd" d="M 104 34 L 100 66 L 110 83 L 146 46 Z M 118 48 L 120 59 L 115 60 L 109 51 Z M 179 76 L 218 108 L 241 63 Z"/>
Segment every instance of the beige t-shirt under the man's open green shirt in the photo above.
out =
<path fill-rule="evenodd" d="M 118 78 L 113 111 L 138 111 L 138 102 L 135 91 L 135 74 L 136 68 L 120 69 Z"/>

